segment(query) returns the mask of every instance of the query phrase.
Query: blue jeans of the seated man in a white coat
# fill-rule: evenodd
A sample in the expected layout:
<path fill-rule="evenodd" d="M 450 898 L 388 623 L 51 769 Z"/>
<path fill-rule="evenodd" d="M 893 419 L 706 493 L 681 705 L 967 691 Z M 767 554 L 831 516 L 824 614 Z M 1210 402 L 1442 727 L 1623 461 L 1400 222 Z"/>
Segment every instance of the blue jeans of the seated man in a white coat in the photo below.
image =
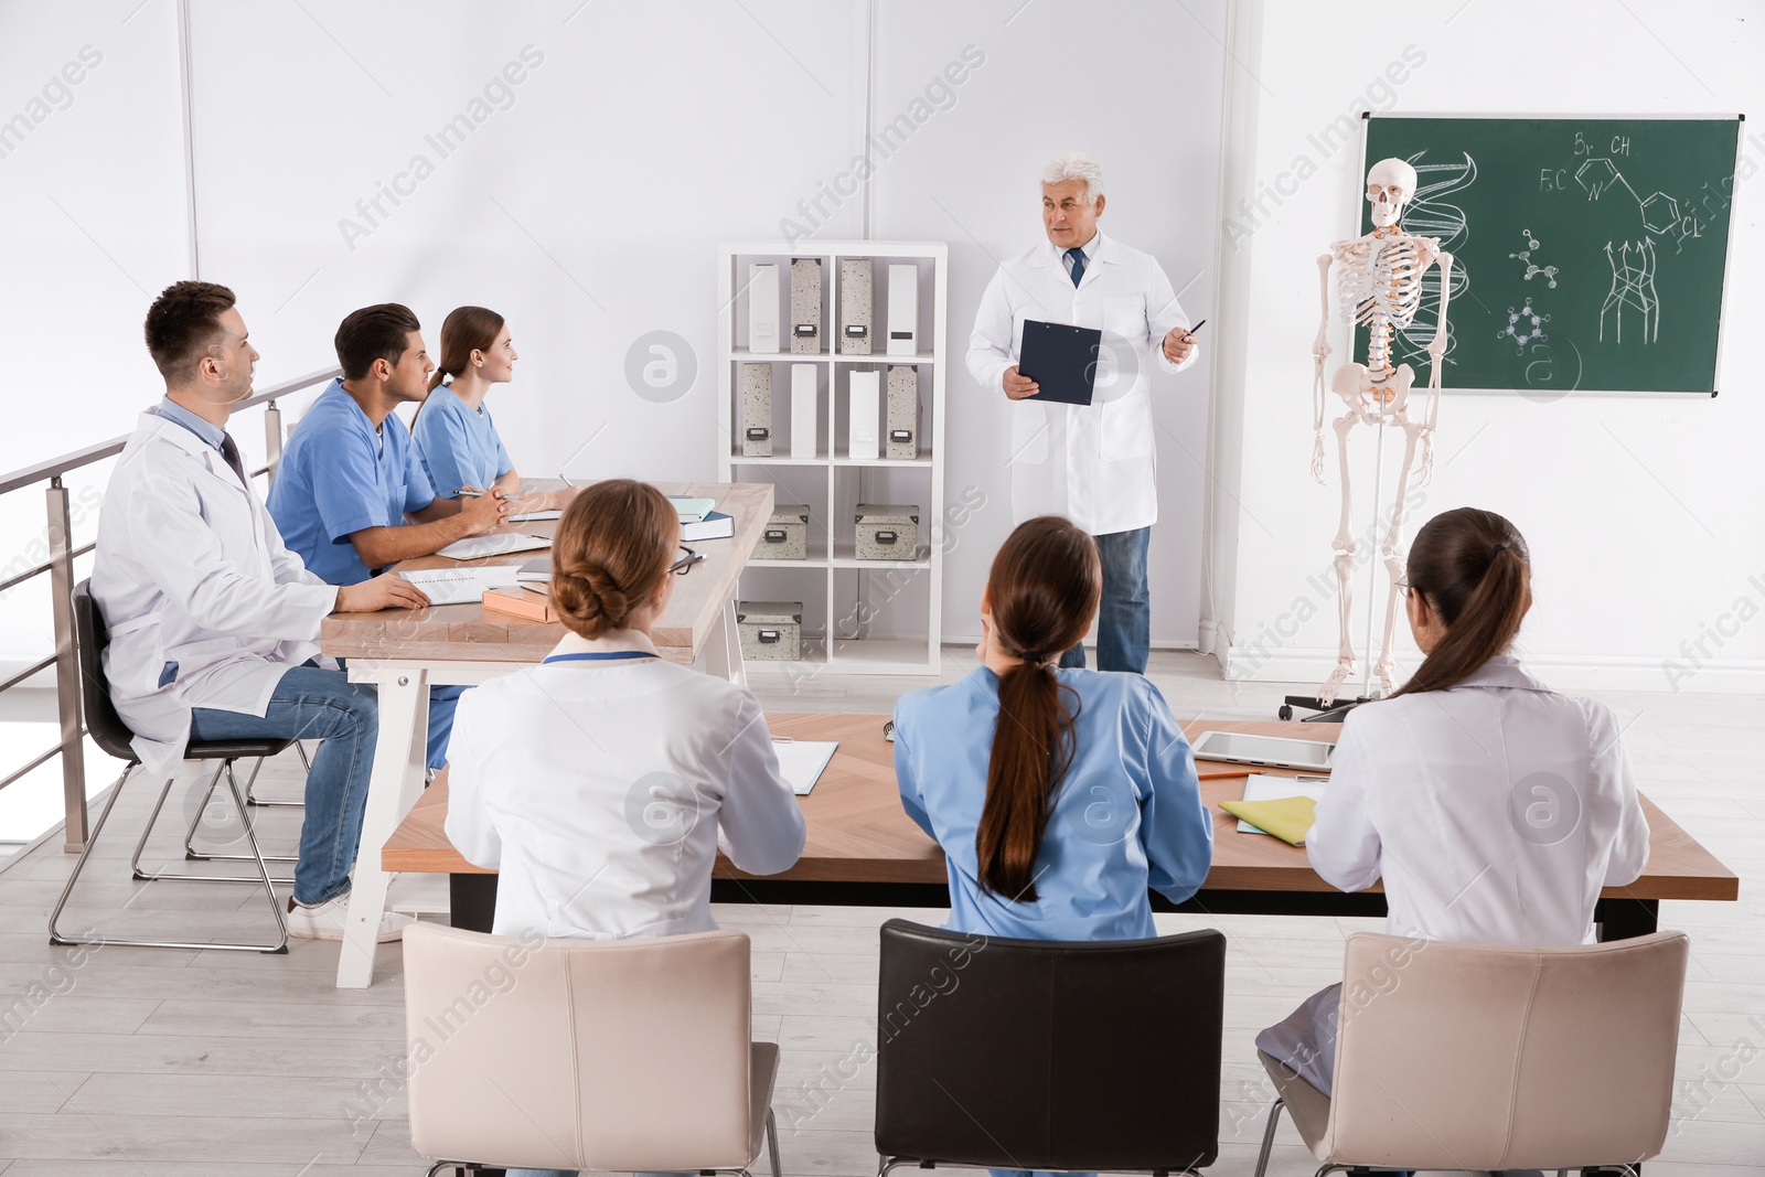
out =
<path fill-rule="evenodd" d="M 309 662 L 282 676 L 263 716 L 217 708 L 191 711 L 192 739 L 263 736 L 321 741 L 307 773 L 295 902 L 323 903 L 349 889 L 349 868 L 362 840 L 367 778 L 379 736 L 374 688 L 351 683 L 342 671 L 325 671 Z"/>

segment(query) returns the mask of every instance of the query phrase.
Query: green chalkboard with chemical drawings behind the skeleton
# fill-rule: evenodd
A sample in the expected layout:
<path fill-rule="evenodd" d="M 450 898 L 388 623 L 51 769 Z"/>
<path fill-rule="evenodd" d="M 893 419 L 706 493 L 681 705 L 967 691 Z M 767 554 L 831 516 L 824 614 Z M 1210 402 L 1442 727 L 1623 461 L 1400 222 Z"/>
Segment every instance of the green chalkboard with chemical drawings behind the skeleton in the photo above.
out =
<path fill-rule="evenodd" d="M 1370 118 L 1368 164 L 1417 171 L 1403 228 L 1453 254 L 1440 383 L 1716 394 L 1739 138 L 1739 118 Z M 1417 383 L 1438 311 L 1437 268 L 1394 341 Z"/>

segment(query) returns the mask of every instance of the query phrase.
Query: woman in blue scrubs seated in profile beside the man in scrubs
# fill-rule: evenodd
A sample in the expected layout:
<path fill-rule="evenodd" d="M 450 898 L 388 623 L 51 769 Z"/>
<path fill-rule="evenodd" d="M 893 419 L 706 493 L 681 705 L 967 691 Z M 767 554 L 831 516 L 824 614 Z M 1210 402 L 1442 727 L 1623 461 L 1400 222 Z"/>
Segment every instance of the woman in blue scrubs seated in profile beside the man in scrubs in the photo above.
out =
<path fill-rule="evenodd" d="M 492 487 L 517 499 L 517 512 L 560 510 L 574 498 L 574 491 L 521 494 L 521 475 L 484 406 L 491 385 L 515 378 L 519 358 L 496 311 L 455 307 L 441 323 L 441 364 L 411 422 L 424 473 L 441 498 L 459 498 L 461 487 Z"/>

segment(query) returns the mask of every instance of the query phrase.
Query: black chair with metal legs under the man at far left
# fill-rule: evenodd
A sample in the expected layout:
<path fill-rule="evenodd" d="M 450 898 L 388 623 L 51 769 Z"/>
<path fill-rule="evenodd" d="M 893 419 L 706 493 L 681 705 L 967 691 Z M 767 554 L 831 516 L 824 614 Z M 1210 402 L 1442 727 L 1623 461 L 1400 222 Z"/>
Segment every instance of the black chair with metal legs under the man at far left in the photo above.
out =
<path fill-rule="evenodd" d="M 122 722 L 116 715 L 115 704 L 111 704 L 109 686 L 104 681 L 104 648 L 109 644 L 109 632 L 104 626 L 104 616 L 99 612 L 97 603 L 92 600 L 92 582 L 81 581 L 74 588 L 74 648 L 79 656 L 79 697 L 86 718 L 86 732 L 92 741 L 102 748 L 106 753 L 116 757 L 118 761 L 127 761 L 122 769 L 122 776 L 111 787 L 109 799 L 104 801 L 104 812 L 99 813 L 97 824 L 86 836 L 86 845 L 79 852 L 79 861 L 74 863 L 74 872 L 67 877 L 67 886 L 62 888 L 62 898 L 56 900 L 55 911 L 49 912 L 49 942 L 51 944 L 132 944 L 139 948 L 221 948 L 233 951 L 249 953 L 286 953 L 288 951 L 288 921 L 282 918 L 282 905 L 275 898 L 275 886 L 270 879 L 270 868 L 265 863 L 263 851 L 258 849 L 258 835 L 251 826 L 251 813 L 245 806 L 245 798 L 238 787 L 238 778 L 233 773 L 233 762 L 249 757 L 268 757 L 277 755 L 293 739 L 192 739 L 184 748 L 185 761 L 219 761 L 221 766 L 215 769 L 210 780 L 210 789 L 224 775 L 228 789 L 233 794 L 233 805 L 238 810 L 240 824 L 245 831 L 245 840 L 251 845 L 251 858 L 258 863 L 256 875 L 180 875 L 155 872 L 148 873 L 141 870 L 141 847 L 146 845 L 148 835 L 154 831 L 154 822 L 159 821 L 159 812 L 166 805 L 166 796 L 171 792 L 171 782 L 175 778 L 168 776 L 166 785 L 159 791 L 159 799 L 154 803 L 154 812 L 146 819 L 146 828 L 141 831 L 141 840 L 136 842 L 134 856 L 131 858 L 131 870 L 136 879 L 141 881 L 185 881 L 185 882 L 258 882 L 263 886 L 265 896 L 270 900 L 270 911 L 275 914 L 275 932 L 277 939 L 272 944 L 231 944 L 231 942 L 205 942 L 205 941 L 139 941 L 139 939 L 115 939 L 106 935 L 67 935 L 56 926 L 62 918 L 62 909 L 67 907 L 67 898 L 74 891 L 74 884 L 79 882 L 81 872 L 86 868 L 86 861 L 92 858 L 92 847 L 97 845 L 99 835 L 104 831 L 104 822 L 109 821 L 111 810 L 116 806 L 116 798 L 122 796 L 122 789 L 129 783 L 129 776 L 134 769 L 141 768 L 141 761 L 134 755 L 134 748 L 129 741 L 134 732 L 129 725 Z"/>

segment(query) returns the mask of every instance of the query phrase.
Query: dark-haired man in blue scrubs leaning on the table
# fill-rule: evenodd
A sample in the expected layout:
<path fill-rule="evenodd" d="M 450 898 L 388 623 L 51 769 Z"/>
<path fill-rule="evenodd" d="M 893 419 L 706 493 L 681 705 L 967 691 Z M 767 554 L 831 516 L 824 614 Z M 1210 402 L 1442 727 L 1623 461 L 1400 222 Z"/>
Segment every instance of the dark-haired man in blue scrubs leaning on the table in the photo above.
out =
<path fill-rule="evenodd" d="M 300 418 L 270 484 L 282 542 L 327 584 L 358 584 L 379 570 L 494 531 L 508 503 L 494 494 L 439 498 L 404 422 L 392 411 L 429 395 L 434 364 L 417 316 L 388 302 L 337 328 L 342 378 Z M 447 487 L 447 494 L 461 489 Z M 454 704 L 464 686 L 429 690 L 431 769 L 447 764 Z"/>

